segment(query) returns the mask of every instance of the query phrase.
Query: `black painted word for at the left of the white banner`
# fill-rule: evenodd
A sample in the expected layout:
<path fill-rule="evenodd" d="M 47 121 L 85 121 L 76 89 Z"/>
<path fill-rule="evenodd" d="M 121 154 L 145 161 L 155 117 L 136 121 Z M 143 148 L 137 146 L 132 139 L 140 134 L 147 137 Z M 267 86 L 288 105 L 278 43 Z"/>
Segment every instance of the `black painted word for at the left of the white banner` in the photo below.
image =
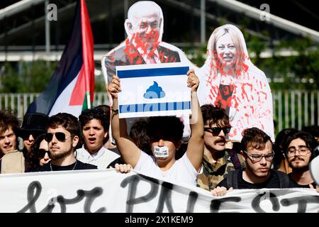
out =
<path fill-rule="evenodd" d="M 31 182 L 28 186 L 27 190 L 27 197 L 28 197 L 28 204 L 23 207 L 18 213 L 26 212 L 30 210 L 30 213 L 35 213 L 35 201 L 39 198 L 41 194 L 41 184 L 38 181 Z M 55 208 L 55 204 L 60 205 L 61 213 L 67 212 L 67 205 L 68 204 L 77 204 L 79 201 L 82 201 L 86 197 L 86 200 L 84 201 L 84 212 L 91 212 L 91 205 L 96 199 L 96 197 L 100 196 L 103 193 L 103 189 L 101 187 L 95 187 L 94 189 L 91 189 L 89 191 L 85 191 L 82 189 L 77 190 L 77 196 L 75 196 L 72 199 L 65 199 L 65 197 L 59 195 L 56 197 L 53 197 L 50 199 L 49 204 L 45 206 L 44 209 L 40 211 L 40 213 L 51 213 L 53 209 Z M 52 203 L 51 201 L 56 201 L 55 203 Z M 106 211 L 105 207 L 101 207 L 96 211 L 96 213 L 100 213 Z"/>

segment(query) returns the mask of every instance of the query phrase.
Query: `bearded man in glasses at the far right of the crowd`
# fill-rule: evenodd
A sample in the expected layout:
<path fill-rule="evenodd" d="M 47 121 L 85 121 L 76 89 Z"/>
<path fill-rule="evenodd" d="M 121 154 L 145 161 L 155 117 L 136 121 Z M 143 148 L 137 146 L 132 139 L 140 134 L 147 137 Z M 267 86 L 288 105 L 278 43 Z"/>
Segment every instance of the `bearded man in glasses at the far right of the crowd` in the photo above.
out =
<path fill-rule="evenodd" d="M 301 131 L 289 135 L 286 140 L 284 150 L 292 169 L 289 177 L 298 184 L 298 187 L 311 189 L 316 187 L 309 170 L 309 162 L 316 156 L 313 151 L 316 145 L 313 135 Z"/>

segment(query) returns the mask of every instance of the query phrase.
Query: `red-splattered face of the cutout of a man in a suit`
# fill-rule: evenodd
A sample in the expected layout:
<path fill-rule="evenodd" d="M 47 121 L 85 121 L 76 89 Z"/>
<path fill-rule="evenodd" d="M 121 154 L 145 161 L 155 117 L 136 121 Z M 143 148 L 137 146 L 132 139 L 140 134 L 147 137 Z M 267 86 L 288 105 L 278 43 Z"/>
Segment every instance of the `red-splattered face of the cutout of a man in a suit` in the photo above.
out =
<path fill-rule="evenodd" d="M 136 16 L 133 25 L 135 41 L 144 43 L 144 45 L 157 43 L 159 41 L 160 24 L 161 21 L 156 12 L 141 13 Z"/>

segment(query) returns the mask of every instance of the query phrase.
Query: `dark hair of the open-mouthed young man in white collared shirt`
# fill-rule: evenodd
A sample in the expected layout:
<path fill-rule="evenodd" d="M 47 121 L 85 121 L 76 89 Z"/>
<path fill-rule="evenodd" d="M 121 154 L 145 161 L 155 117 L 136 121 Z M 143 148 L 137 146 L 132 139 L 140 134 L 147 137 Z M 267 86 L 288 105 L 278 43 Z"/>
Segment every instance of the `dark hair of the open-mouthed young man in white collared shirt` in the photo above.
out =
<path fill-rule="evenodd" d="M 106 112 L 100 108 L 86 109 L 85 111 L 82 111 L 82 114 L 79 116 L 81 129 L 83 129 L 83 127 L 93 119 L 99 120 L 104 131 L 108 131 L 108 128 L 110 127 L 110 111 Z"/>

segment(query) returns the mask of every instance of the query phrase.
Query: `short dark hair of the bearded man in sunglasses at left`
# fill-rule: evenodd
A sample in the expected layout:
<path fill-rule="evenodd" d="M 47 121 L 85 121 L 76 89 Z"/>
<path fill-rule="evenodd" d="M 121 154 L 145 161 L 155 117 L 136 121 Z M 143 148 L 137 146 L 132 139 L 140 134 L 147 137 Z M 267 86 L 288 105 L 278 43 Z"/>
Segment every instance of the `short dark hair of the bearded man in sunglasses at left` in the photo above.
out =
<path fill-rule="evenodd" d="M 47 128 L 57 128 L 62 126 L 65 130 L 69 131 L 71 135 L 81 135 L 81 128 L 77 117 L 72 114 L 59 113 L 53 116 L 50 116 L 47 123 Z"/>

